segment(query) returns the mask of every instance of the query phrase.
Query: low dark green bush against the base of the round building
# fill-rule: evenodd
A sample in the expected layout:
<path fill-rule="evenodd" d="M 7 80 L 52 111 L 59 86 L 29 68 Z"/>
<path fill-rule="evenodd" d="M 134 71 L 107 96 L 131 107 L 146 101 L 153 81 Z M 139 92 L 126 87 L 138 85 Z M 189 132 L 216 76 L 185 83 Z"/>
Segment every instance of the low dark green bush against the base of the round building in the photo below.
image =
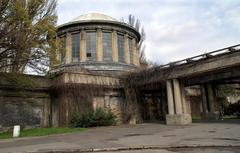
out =
<path fill-rule="evenodd" d="M 96 127 L 116 124 L 116 116 L 111 111 L 102 108 L 89 110 L 83 115 L 73 114 L 69 121 L 70 127 Z"/>

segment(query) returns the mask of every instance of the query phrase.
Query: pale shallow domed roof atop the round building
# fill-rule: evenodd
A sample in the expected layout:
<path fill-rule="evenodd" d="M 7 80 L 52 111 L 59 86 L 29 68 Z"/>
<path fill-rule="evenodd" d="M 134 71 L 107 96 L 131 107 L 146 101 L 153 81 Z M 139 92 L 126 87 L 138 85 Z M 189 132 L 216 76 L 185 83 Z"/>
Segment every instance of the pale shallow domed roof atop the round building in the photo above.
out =
<path fill-rule="evenodd" d="M 78 16 L 77 18 L 73 19 L 71 22 L 81 22 L 81 21 L 96 21 L 96 20 L 104 20 L 104 21 L 118 21 L 117 19 L 101 14 L 101 13 L 88 13 Z"/>

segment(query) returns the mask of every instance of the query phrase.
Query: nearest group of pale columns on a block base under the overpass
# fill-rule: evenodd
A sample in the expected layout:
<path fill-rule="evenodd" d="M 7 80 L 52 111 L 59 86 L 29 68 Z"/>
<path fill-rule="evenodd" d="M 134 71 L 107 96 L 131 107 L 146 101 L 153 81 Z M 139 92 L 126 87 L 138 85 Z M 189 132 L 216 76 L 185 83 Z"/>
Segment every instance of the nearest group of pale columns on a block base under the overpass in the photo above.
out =
<path fill-rule="evenodd" d="M 179 79 L 167 80 L 168 114 L 167 125 L 185 125 L 192 123 L 192 117 L 187 111 L 183 84 Z M 184 108 L 184 109 L 183 109 Z"/>

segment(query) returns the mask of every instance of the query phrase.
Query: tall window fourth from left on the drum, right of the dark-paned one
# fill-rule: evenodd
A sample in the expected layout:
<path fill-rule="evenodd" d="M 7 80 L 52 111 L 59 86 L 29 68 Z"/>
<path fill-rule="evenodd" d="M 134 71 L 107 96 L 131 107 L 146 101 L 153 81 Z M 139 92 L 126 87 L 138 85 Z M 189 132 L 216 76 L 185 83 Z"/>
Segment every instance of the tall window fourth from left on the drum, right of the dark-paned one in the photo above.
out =
<path fill-rule="evenodd" d="M 103 61 L 112 61 L 112 33 L 103 32 Z"/>

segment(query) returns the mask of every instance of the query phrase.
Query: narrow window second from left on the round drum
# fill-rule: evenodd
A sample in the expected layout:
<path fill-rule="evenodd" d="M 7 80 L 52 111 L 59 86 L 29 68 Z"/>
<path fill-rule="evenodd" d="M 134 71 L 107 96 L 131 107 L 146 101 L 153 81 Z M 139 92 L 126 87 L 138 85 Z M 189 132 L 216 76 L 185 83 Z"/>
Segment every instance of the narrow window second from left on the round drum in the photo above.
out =
<path fill-rule="evenodd" d="M 79 61 L 80 54 L 80 34 L 72 34 L 72 62 Z"/>

